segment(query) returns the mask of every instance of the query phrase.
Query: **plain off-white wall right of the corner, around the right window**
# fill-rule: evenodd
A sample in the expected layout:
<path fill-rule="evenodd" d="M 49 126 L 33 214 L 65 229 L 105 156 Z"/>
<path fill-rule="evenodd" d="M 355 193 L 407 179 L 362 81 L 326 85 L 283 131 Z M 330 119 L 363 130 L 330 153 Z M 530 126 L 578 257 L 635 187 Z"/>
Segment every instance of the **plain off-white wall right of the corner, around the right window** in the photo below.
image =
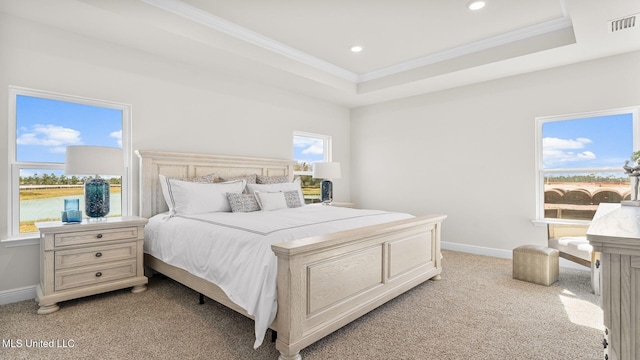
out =
<path fill-rule="evenodd" d="M 456 247 L 545 244 L 531 223 L 535 117 L 640 105 L 639 64 L 635 52 L 354 109 L 351 199 L 446 214 Z"/>

